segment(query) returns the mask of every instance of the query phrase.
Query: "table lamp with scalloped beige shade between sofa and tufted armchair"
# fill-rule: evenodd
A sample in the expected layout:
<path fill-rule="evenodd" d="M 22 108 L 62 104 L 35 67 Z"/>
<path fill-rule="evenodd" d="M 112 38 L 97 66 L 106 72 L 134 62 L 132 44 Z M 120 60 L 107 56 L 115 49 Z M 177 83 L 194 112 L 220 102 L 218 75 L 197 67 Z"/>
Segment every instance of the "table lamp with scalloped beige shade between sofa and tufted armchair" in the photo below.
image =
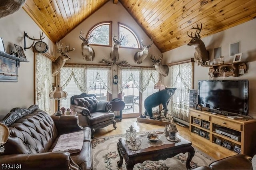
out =
<path fill-rule="evenodd" d="M 62 99 L 66 99 L 68 93 L 66 91 L 62 90 L 62 87 L 54 87 L 54 91 L 52 91 L 52 93 L 50 93 L 49 97 L 50 99 L 53 100 L 58 100 L 58 111 L 56 111 L 55 116 L 60 116 L 62 115 L 61 111 L 60 111 L 60 100 Z"/>

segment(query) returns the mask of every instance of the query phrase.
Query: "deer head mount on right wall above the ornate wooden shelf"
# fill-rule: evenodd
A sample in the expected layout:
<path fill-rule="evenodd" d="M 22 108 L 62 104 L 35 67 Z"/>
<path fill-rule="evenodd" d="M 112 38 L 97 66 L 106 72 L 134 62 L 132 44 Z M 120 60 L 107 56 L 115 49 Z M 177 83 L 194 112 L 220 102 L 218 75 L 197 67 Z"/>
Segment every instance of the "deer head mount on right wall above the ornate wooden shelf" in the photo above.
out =
<path fill-rule="evenodd" d="M 195 48 L 195 53 L 194 53 L 194 60 L 197 63 L 197 65 L 204 66 L 205 61 L 209 60 L 209 52 L 206 50 L 206 47 L 204 45 L 204 42 L 200 39 L 200 32 L 202 30 L 202 23 L 201 27 L 196 24 L 196 28 L 192 26 L 192 30 L 196 30 L 194 36 L 192 35 L 192 32 L 188 36 L 192 38 L 188 45 L 193 45 Z"/>

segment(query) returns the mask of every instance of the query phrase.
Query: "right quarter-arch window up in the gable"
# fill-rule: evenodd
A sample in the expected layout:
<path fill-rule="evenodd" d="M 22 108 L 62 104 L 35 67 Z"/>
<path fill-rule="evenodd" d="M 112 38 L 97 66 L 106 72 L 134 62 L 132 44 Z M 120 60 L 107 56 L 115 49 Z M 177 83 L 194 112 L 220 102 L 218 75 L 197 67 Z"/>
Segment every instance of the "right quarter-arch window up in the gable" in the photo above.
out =
<path fill-rule="evenodd" d="M 122 45 L 120 47 L 140 48 L 138 37 L 130 28 L 128 28 L 128 26 L 118 23 L 118 32 L 119 38 L 124 36 L 124 40 L 122 41 Z"/>

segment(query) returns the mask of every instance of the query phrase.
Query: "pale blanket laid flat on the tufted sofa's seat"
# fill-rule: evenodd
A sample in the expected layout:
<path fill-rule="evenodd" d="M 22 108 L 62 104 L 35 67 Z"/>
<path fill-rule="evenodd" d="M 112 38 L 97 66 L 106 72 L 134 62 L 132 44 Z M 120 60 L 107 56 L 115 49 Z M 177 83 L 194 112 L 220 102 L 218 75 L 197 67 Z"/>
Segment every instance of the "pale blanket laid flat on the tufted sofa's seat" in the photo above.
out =
<path fill-rule="evenodd" d="M 53 148 L 52 152 L 58 151 L 68 151 L 71 154 L 80 152 L 84 142 L 84 132 L 73 132 L 68 134 L 62 134 L 58 138 L 56 146 Z"/>

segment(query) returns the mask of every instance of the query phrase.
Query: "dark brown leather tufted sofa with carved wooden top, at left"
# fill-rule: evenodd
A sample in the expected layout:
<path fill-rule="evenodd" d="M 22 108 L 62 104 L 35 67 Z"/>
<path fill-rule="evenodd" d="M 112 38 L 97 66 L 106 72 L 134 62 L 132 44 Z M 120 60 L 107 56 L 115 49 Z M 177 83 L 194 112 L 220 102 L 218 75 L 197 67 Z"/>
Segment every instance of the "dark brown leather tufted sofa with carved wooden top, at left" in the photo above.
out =
<path fill-rule="evenodd" d="M 28 109 L 14 108 L 1 123 L 8 126 L 10 136 L 1 164 L 18 164 L 22 170 L 92 170 L 90 128 L 78 125 L 77 116 L 50 116 L 37 105 Z M 80 152 L 52 152 L 61 134 L 83 130 Z"/>

